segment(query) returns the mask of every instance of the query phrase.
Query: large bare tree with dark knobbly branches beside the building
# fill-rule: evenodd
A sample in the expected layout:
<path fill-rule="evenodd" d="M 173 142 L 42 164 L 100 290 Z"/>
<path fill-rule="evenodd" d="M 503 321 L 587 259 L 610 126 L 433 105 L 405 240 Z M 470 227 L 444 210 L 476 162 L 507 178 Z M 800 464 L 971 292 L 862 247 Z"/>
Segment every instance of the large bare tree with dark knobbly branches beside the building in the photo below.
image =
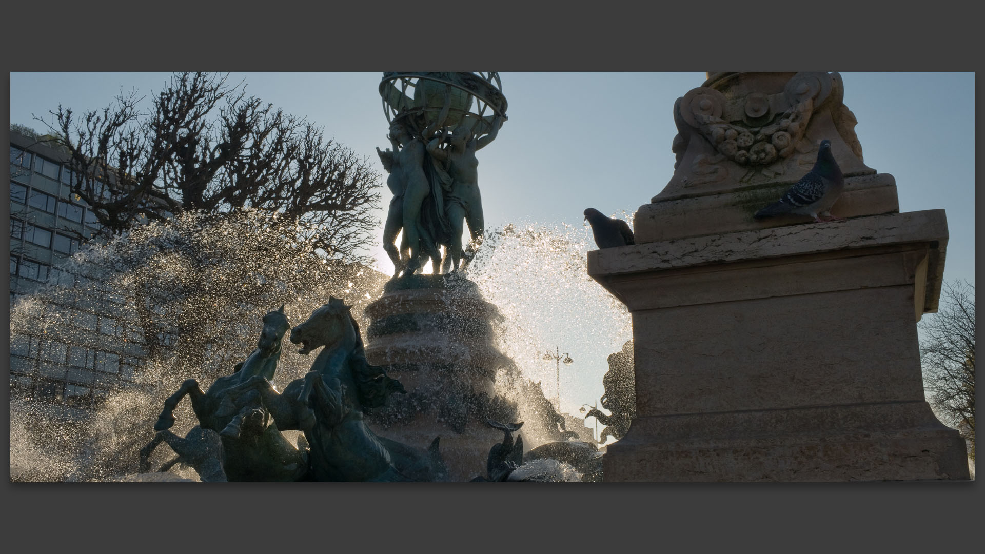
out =
<path fill-rule="evenodd" d="M 181 211 L 260 208 L 303 224 L 331 257 L 367 259 L 380 178 L 364 157 L 226 76 L 175 74 L 149 113 L 142 100 L 121 92 L 81 116 L 59 105 L 46 123 L 69 153 L 72 192 L 107 235 Z"/>

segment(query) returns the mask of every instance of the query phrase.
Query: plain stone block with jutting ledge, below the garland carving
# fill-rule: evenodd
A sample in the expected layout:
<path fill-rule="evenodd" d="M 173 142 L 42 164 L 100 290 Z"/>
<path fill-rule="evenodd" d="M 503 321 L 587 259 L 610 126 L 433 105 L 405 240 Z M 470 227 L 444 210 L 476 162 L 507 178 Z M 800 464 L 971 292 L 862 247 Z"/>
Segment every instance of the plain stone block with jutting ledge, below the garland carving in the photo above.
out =
<path fill-rule="evenodd" d="M 632 313 L 636 417 L 606 481 L 966 479 L 924 400 L 943 210 L 591 251 Z"/>

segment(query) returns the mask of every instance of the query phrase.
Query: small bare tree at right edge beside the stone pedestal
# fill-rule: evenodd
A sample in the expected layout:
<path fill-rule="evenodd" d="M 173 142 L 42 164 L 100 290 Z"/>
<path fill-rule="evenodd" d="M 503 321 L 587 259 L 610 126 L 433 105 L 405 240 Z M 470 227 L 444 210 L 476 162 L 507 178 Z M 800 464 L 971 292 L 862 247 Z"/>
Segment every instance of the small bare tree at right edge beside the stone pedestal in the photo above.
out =
<path fill-rule="evenodd" d="M 920 323 L 924 386 L 944 423 L 960 431 L 975 457 L 975 287 L 948 283 L 940 310 Z"/>

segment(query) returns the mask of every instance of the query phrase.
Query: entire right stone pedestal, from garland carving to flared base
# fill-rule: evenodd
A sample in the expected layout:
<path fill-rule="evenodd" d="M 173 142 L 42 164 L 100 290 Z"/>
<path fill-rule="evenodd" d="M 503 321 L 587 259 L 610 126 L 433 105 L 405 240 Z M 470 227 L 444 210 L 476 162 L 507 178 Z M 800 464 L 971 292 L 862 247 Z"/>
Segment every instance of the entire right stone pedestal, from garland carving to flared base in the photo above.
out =
<path fill-rule="evenodd" d="M 898 213 L 842 98 L 837 73 L 723 72 L 675 104 L 675 172 L 636 243 L 588 253 L 635 350 L 636 417 L 606 481 L 968 478 L 924 400 L 916 328 L 937 310 L 945 214 Z M 755 220 L 823 139 L 848 221 Z"/>

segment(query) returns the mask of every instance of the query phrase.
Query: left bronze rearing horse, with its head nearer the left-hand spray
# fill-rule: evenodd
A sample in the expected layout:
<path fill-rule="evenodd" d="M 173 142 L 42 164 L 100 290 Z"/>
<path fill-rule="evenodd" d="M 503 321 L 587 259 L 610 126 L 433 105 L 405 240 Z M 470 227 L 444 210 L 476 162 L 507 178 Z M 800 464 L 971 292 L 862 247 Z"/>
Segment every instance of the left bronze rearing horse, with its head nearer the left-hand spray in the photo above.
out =
<path fill-rule="evenodd" d="M 141 450 L 141 470 L 148 469 L 148 456 L 166 442 L 181 458 L 199 471 L 203 480 L 296 481 L 307 473 L 306 452 L 296 449 L 271 421 L 258 392 L 236 388 L 252 378 L 271 380 L 281 357 L 281 343 L 291 323 L 284 306 L 263 316 L 263 329 L 256 349 L 234 373 L 217 379 L 202 392 L 198 381 L 181 383 L 164 400 L 164 410 L 154 426 L 158 434 Z M 170 431 L 174 408 L 187 395 L 199 425 L 182 439 Z M 218 434 L 221 444 L 217 448 Z M 218 457 L 223 475 L 212 458 Z M 197 460 L 197 461 L 194 461 Z M 199 469 L 202 466 L 204 469 Z M 203 474 L 203 470 L 206 474 Z M 223 477 L 226 477 L 224 479 Z"/>

